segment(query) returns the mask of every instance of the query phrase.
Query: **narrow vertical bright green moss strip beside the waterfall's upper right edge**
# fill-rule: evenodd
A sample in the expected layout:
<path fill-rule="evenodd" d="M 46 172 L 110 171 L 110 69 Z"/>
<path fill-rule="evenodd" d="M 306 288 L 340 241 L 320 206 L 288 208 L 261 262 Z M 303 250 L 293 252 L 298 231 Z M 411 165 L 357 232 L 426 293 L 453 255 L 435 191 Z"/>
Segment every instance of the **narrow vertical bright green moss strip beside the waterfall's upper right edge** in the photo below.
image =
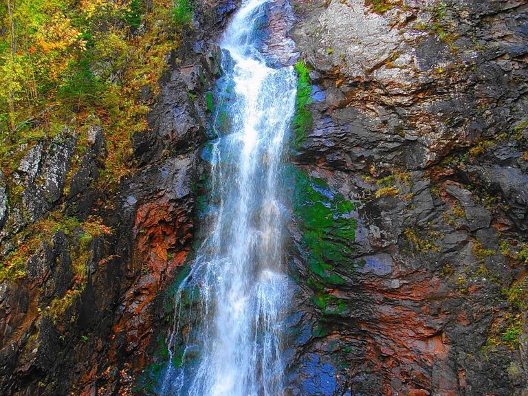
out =
<path fill-rule="evenodd" d="M 309 69 L 303 61 L 298 61 L 295 64 L 295 69 L 298 79 L 294 115 L 294 147 L 298 148 L 306 139 L 314 120 L 311 111 L 308 109 L 308 105 L 312 102 Z"/>

